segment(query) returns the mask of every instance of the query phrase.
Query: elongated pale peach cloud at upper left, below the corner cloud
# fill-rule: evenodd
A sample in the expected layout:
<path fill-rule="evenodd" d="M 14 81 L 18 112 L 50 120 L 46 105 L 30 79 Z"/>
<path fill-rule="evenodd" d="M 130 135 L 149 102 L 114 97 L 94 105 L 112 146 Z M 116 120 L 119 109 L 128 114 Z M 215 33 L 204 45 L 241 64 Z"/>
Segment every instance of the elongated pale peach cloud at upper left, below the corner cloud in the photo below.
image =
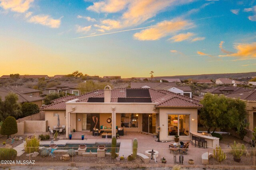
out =
<path fill-rule="evenodd" d="M 55 20 L 51 16 L 42 14 L 42 15 L 32 16 L 28 20 L 28 22 L 39 23 L 41 25 L 46 25 L 46 26 L 51 27 L 51 28 L 58 28 L 58 27 L 60 27 L 60 19 Z"/>

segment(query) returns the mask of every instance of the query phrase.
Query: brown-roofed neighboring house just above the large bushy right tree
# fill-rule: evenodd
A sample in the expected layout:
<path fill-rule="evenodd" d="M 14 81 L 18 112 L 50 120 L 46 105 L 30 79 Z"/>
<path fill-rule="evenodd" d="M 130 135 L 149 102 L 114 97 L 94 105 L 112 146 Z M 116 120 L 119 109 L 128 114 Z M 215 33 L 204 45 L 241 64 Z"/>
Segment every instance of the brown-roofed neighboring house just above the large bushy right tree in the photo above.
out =
<path fill-rule="evenodd" d="M 211 93 L 211 94 L 230 94 L 230 93 L 235 93 L 235 92 L 242 92 L 244 90 L 248 90 L 248 88 L 243 88 L 243 87 L 234 87 L 234 86 L 220 86 L 217 88 L 210 88 L 206 90 L 201 90 L 201 96 L 204 96 L 206 93 Z"/>

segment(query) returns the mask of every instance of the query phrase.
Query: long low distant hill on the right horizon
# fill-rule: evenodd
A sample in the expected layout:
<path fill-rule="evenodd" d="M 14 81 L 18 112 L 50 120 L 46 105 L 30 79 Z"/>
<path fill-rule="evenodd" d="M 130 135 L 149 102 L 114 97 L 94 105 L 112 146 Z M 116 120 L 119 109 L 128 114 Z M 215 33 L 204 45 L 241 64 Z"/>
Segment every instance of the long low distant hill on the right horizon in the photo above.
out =
<path fill-rule="evenodd" d="M 242 72 L 242 73 L 225 73 L 225 74 L 199 74 L 199 75 L 184 75 L 184 76 L 157 76 L 154 77 L 155 80 L 160 80 L 161 78 L 180 78 L 180 80 L 192 79 L 212 79 L 216 80 L 218 78 L 236 78 L 236 79 L 246 79 L 256 76 L 256 72 Z"/>

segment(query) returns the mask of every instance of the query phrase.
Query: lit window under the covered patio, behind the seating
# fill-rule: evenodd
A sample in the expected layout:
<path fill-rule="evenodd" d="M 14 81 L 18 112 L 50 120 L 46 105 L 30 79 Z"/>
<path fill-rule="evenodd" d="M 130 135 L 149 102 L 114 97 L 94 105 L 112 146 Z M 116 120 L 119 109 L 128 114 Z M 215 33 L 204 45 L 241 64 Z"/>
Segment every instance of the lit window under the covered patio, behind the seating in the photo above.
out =
<path fill-rule="evenodd" d="M 121 113 L 121 127 L 138 127 L 138 114 Z"/>

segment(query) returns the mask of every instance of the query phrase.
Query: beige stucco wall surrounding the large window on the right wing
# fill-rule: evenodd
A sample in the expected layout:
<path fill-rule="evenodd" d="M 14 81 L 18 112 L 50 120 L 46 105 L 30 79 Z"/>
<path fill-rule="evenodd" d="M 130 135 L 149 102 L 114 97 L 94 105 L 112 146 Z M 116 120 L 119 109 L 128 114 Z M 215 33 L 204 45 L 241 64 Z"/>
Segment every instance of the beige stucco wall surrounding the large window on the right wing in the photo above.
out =
<path fill-rule="evenodd" d="M 168 113 L 170 114 L 189 114 L 190 115 L 190 132 L 197 132 L 197 108 L 160 108 L 159 109 L 159 126 L 160 140 L 173 141 L 174 137 L 168 136 Z M 194 121 L 192 121 L 194 119 Z M 190 136 L 180 136 L 180 140 L 191 140 Z"/>

